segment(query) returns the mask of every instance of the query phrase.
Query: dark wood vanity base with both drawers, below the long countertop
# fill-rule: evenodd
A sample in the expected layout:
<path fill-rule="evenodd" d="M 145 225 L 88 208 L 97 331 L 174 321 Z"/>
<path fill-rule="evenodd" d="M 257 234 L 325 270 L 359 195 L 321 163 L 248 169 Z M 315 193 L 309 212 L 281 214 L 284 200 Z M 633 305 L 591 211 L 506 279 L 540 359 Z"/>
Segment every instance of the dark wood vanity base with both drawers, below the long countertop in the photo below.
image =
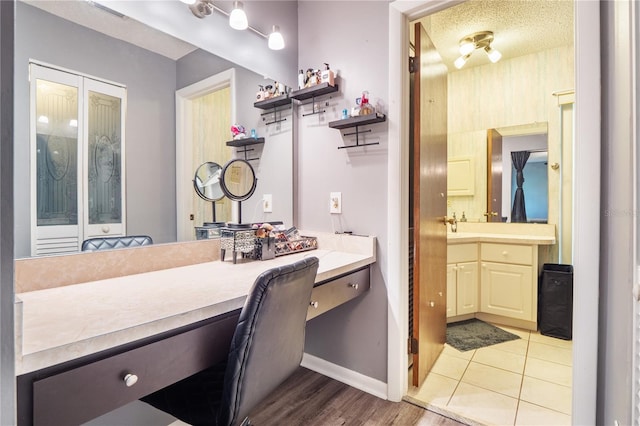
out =
<path fill-rule="evenodd" d="M 313 288 L 307 320 L 361 295 L 369 266 Z M 240 310 L 17 377 L 18 425 L 78 425 L 226 360 Z"/>

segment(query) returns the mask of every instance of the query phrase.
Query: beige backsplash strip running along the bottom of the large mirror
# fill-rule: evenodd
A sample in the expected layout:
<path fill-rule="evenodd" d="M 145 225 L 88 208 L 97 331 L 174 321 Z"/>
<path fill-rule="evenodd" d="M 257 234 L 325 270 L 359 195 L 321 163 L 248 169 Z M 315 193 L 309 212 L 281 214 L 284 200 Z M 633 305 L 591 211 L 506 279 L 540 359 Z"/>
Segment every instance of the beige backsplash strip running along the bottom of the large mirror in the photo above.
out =
<path fill-rule="evenodd" d="M 15 292 L 43 290 L 220 259 L 220 240 L 18 259 Z"/>

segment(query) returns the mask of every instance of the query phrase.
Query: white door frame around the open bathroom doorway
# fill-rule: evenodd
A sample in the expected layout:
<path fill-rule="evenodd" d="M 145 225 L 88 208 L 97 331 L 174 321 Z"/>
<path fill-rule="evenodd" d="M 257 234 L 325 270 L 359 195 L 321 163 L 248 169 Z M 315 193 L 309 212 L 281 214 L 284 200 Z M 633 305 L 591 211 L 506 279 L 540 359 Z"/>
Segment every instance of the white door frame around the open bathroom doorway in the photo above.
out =
<path fill-rule="evenodd" d="M 389 5 L 389 140 L 406 141 L 409 129 L 409 21 L 458 4 L 457 0 L 400 1 Z M 600 236 L 600 6 L 574 1 L 576 113 L 574 140 L 574 424 L 595 424 L 598 353 Z M 594 30 L 595 29 L 595 30 Z M 408 383 L 408 147 L 389 145 L 387 397 L 400 401 Z M 579 211 L 577 216 L 575 212 Z M 596 230 L 596 231 L 594 231 Z M 576 354 L 580 354 L 577 357 Z"/>

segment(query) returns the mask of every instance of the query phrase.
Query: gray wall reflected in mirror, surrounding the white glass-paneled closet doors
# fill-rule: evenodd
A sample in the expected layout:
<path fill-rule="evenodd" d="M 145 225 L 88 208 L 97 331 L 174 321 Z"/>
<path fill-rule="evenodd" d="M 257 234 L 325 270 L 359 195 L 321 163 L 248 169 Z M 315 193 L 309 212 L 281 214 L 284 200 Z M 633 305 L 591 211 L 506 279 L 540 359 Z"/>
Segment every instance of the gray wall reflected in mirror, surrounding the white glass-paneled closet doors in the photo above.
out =
<path fill-rule="evenodd" d="M 175 241 L 175 62 L 22 2 L 15 28 L 16 257 L 30 255 L 29 59 L 127 86 L 127 232 Z"/>

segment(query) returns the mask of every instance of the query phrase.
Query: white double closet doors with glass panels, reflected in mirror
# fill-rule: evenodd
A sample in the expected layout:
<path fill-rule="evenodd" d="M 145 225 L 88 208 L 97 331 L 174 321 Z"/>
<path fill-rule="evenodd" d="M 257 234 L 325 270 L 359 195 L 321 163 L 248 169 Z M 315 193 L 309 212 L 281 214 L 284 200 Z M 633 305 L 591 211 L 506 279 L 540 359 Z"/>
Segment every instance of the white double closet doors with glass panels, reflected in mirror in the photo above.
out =
<path fill-rule="evenodd" d="M 31 254 L 125 234 L 123 87 L 30 64 Z"/>

